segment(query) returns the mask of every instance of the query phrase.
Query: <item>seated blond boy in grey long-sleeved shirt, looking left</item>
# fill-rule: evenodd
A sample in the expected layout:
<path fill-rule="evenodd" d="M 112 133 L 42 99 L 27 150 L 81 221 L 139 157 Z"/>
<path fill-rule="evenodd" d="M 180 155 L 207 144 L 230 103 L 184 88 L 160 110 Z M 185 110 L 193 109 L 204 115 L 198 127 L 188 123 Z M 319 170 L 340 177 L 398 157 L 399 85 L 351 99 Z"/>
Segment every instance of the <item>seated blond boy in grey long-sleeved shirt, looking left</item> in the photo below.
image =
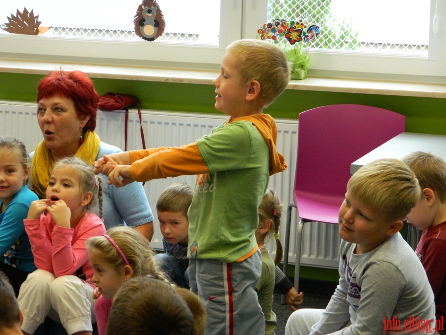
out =
<path fill-rule="evenodd" d="M 396 159 L 373 161 L 353 174 L 339 208 L 339 284 L 325 310 L 293 312 L 285 334 L 433 332 L 432 289 L 399 234 L 420 194 L 416 176 Z"/>

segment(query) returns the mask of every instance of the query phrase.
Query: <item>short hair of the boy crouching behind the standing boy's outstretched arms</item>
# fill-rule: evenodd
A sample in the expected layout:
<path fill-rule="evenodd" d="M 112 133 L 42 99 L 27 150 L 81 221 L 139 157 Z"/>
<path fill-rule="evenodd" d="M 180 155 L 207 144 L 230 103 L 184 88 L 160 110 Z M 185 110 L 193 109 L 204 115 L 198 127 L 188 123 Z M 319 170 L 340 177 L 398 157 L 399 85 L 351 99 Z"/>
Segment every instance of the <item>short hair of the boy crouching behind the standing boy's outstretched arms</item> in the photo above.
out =
<path fill-rule="evenodd" d="M 187 210 L 192 202 L 194 190 L 187 184 L 175 183 L 166 188 L 157 201 L 157 210 L 161 212 L 182 212 L 187 217 Z"/>

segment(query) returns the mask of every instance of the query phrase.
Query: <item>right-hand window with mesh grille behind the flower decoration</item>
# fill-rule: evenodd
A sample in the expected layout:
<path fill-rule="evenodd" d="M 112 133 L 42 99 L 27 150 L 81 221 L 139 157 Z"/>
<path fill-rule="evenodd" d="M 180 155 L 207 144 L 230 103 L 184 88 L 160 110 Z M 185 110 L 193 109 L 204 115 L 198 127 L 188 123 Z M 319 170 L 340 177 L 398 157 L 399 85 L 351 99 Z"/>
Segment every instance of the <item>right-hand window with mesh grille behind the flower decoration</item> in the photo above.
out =
<path fill-rule="evenodd" d="M 444 76 L 445 22 L 438 20 L 442 13 L 444 0 L 268 1 L 269 20 L 298 16 L 321 25 L 310 50 L 310 68 L 376 77 Z"/>

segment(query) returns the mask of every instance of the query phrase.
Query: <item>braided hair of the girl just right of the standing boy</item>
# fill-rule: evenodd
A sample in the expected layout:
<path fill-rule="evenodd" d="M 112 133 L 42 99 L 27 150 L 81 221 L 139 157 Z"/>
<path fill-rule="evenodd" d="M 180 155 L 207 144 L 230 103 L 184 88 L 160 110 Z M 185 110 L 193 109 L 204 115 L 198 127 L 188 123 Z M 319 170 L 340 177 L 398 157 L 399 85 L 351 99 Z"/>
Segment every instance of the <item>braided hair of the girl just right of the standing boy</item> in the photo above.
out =
<path fill-rule="evenodd" d="M 282 216 L 283 204 L 280 203 L 279 196 L 271 189 L 267 189 L 262 202 L 260 203 L 258 213 L 259 221 L 269 220 L 272 224 L 266 237 L 269 238 L 274 235 L 276 240 L 276 259 L 274 263 L 278 265 L 283 257 L 283 248 L 279 240 L 280 217 Z"/>

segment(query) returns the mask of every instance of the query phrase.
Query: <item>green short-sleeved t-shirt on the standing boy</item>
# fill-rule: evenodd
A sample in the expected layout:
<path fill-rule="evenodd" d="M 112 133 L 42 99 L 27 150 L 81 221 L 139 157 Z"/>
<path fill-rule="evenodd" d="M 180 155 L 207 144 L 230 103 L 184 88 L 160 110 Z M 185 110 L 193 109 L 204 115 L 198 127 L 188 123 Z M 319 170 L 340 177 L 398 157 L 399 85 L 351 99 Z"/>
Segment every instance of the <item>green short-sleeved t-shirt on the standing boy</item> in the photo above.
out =
<path fill-rule="evenodd" d="M 269 182 L 269 148 L 247 121 L 197 141 L 210 173 L 197 176 L 189 207 L 189 258 L 232 263 L 256 245 L 257 209 Z"/>

